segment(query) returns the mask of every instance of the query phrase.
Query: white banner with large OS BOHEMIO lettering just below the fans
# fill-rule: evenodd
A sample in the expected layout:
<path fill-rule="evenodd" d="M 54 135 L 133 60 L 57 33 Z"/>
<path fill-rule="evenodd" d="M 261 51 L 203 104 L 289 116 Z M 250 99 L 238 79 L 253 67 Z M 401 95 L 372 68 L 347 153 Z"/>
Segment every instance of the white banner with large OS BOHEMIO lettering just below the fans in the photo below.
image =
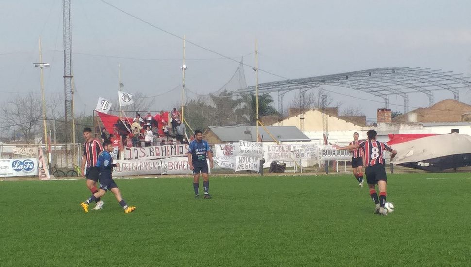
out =
<path fill-rule="evenodd" d="M 164 145 L 155 147 L 132 147 L 124 150 L 125 160 L 151 160 L 175 156 L 188 156 L 188 145 Z"/>

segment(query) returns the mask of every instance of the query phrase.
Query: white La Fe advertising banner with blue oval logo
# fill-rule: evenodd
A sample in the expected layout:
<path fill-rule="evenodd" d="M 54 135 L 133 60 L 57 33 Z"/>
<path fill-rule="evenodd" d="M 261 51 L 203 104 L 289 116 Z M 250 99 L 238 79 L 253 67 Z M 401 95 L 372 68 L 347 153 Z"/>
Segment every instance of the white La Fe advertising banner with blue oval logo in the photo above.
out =
<path fill-rule="evenodd" d="M 32 176 L 37 175 L 37 160 L 28 159 L 0 159 L 0 177 Z"/>

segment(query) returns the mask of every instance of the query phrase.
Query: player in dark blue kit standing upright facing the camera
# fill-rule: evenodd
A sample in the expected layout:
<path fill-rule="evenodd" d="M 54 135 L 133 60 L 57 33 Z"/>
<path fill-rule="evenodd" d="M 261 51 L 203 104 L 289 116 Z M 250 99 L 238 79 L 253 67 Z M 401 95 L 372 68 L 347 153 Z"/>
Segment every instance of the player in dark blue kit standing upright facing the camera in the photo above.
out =
<path fill-rule="evenodd" d="M 188 146 L 188 164 L 193 171 L 193 188 L 195 189 L 195 198 L 199 198 L 198 188 L 200 186 L 200 172 L 203 176 L 204 198 L 211 199 L 209 194 L 209 168 L 206 158 L 209 159 L 209 167 L 213 168 L 213 153 L 206 140 L 203 140 L 203 134 L 200 130 L 195 131 L 195 140 Z"/>

